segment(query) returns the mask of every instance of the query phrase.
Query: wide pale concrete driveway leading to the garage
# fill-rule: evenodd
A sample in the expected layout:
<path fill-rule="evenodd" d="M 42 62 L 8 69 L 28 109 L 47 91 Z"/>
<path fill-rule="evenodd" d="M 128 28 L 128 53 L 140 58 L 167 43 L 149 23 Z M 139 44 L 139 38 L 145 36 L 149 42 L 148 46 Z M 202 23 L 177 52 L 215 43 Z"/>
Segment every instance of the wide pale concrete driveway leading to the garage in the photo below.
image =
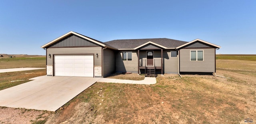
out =
<path fill-rule="evenodd" d="M 0 90 L 0 106 L 56 111 L 100 80 L 90 77 L 40 76 Z"/>

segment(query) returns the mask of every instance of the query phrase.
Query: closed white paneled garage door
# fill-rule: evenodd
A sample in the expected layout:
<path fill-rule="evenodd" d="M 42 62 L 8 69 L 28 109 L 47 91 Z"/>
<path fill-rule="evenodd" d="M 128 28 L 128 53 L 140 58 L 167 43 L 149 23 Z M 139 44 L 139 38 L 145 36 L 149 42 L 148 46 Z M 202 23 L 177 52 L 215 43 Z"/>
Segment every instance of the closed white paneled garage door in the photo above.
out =
<path fill-rule="evenodd" d="M 93 56 L 55 55 L 55 76 L 93 77 Z"/>

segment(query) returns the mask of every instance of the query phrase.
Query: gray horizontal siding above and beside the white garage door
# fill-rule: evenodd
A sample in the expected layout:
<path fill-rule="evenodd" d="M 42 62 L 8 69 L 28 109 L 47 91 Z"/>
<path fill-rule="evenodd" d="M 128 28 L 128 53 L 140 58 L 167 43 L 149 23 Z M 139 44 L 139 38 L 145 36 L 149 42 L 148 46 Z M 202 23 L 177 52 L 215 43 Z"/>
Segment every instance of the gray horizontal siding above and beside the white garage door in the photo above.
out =
<path fill-rule="evenodd" d="M 47 65 L 53 65 L 53 54 L 94 54 L 94 66 L 101 66 L 101 47 L 82 47 L 82 48 L 48 48 L 46 55 L 52 55 L 47 58 Z M 98 57 L 96 54 L 98 53 Z"/>

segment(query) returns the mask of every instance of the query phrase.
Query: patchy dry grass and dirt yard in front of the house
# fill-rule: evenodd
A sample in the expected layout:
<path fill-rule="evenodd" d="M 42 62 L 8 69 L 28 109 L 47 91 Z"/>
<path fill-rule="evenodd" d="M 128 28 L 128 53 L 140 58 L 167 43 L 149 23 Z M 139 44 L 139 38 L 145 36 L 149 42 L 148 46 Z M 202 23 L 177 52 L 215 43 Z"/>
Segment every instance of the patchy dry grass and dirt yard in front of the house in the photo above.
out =
<path fill-rule="evenodd" d="M 242 61 L 217 60 L 217 75 L 230 79 L 164 74 L 154 85 L 96 83 L 56 112 L 0 108 L 0 123 L 233 124 L 245 123 L 247 118 L 255 123 L 256 62 Z M 140 80 L 143 76 L 109 78 Z"/>

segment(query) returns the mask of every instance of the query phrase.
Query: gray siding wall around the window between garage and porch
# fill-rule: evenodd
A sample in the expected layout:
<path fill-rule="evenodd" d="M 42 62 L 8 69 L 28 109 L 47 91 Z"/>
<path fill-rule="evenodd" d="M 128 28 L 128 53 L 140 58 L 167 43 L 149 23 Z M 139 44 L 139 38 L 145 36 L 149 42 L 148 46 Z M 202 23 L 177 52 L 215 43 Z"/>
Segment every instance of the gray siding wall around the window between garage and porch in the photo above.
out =
<path fill-rule="evenodd" d="M 132 60 L 122 60 L 122 52 L 132 52 Z M 120 50 L 116 52 L 116 72 L 138 73 L 138 56 L 134 50 Z"/>

